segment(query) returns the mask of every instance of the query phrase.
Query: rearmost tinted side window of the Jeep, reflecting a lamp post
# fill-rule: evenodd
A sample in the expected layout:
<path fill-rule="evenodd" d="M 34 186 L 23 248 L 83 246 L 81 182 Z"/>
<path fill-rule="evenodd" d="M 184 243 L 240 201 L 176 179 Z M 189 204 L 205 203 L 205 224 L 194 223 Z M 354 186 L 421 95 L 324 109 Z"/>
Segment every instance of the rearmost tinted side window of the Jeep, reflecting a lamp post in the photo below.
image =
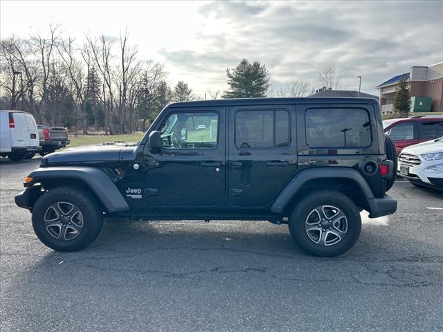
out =
<path fill-rule="evenodd" d="M 364 109 L 307 109 L 308 147 L 368 147 L 369 114 Z"/>

